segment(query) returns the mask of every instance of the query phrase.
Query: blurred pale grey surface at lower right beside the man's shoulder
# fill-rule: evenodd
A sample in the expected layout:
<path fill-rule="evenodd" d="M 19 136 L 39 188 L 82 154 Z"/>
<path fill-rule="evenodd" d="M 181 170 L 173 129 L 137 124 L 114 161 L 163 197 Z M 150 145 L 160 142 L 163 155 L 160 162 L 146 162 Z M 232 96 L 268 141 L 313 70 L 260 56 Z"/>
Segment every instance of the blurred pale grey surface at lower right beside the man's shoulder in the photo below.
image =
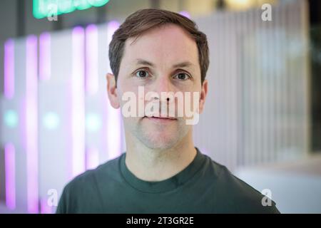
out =
<path fill-rule="evenodd" d="M 258 191 L 271 190 L 281 213 L 321 213 L 321 155 L 240 168 L 235 175 Z"/>

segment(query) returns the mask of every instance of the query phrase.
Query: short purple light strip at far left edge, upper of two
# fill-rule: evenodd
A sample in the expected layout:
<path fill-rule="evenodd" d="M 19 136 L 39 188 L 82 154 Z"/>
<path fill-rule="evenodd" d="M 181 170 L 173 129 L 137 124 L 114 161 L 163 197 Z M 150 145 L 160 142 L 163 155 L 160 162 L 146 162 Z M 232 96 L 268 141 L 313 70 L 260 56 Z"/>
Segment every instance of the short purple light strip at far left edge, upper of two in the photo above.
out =
<path fill-rule="evenodd" d="M 14 97 L 14 41 L 4 43 L 4 96 Z"/>

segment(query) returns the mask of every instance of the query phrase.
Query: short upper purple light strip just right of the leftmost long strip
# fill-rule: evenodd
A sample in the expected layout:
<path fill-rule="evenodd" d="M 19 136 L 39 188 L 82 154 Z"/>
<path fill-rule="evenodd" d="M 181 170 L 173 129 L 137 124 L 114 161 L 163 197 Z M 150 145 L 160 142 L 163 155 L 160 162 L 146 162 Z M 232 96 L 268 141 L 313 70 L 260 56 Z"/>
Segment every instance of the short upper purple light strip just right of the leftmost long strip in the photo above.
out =
<path fill-rule="evenodd" d="M 42 33 L 39 37 L 39 79 L 49 80 L 51 77 L 51 36 Z"/>

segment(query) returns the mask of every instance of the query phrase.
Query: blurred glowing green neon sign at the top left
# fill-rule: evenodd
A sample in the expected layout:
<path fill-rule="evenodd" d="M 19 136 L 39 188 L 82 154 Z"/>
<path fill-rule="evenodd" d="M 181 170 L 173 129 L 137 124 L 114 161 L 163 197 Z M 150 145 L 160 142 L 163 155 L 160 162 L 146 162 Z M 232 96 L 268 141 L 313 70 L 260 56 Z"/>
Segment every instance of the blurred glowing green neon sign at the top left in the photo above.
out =
<path fill-rule="evenodd" d="M 75 10 L 106 5 L 109 0 L 34 0 L 33 14 L 36 19 L 68 14 Z"/>

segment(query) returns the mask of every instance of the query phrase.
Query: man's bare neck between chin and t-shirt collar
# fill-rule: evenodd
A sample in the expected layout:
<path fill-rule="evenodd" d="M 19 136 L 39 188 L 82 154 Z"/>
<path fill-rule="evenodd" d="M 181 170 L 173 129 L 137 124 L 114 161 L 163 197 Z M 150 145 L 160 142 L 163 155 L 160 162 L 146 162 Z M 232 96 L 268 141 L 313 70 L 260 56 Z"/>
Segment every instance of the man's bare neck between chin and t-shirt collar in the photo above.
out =
<path fill-rule="evenodd" d="M 135 142 L 134 142 L 135 141 Z M 161 181 L 187 167 L 196 155 L 192 133 L 168 150 L 153 150 L 126 135 L 126 166 L 141 180 Z"/>

